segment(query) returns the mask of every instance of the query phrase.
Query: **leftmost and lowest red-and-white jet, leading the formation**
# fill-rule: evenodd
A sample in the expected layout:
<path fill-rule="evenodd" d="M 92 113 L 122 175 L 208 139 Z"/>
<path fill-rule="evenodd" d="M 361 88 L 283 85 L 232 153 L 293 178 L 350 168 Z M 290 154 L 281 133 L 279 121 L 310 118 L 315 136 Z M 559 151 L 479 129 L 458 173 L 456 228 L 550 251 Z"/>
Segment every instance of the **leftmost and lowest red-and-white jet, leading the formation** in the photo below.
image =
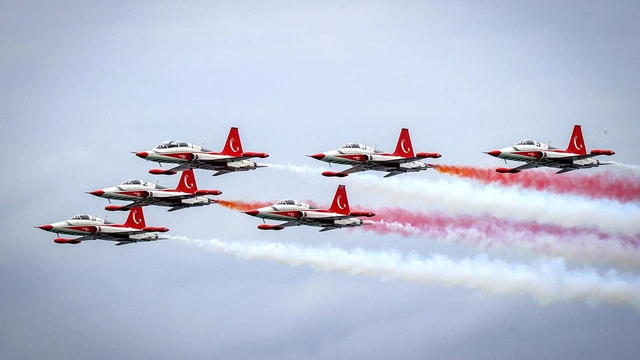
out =
<path fill-rule="evenodd" d="M 124 224 L 114 224 L 91 215 L 76 215 L 69 220 L 37 226 L 58 234 L 80 235 L 79 238 L 61 238 L 53 241 L 57 244 L 79 244 L 86 240 L 117 241 L 116 245 L 132 244 L 139 241 L 162 239 L 155 232 L 167 232 L 169 229 L 159 226 L 147 226 L 141 207 L 131 209 Z"/>

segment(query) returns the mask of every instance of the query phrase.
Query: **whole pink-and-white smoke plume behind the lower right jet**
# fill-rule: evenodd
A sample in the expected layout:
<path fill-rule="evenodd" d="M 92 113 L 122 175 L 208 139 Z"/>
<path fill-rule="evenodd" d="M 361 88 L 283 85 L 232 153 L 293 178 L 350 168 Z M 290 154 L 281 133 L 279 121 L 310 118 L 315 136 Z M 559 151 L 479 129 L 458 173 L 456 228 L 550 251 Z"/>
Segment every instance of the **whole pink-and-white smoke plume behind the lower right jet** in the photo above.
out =
<path fill-rule="evenodd" d="M 535 221 L 513 221 L 489 215 L 448 216 L 398 208 L 374 211 L 376 218 L 365 231 L 428 236 L 476 248 L 516 248 L 569 260 L 605 262 L 640 267 L 640 236 L 609 235 L 593 229 L 565 228 Z"/>

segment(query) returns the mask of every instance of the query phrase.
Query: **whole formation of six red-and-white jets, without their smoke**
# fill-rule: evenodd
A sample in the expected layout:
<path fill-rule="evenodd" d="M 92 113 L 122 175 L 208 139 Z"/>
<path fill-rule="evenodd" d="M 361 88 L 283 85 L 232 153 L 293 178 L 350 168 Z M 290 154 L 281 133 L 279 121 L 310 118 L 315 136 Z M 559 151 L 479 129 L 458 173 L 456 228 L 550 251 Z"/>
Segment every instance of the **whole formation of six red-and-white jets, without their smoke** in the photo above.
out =
<path fill-rule="evenodd" d="M 194 169 L 215 171 L 219 176 L 237 171 L 255 170 L 266 167 L 251 158 L 267 158 L 264 152 L 243 151 L 238 128 L 229 131 L 224 148 L 220 152 L 211 151 L 201 146 L 183 141 L 165 141 L 151 150 L 136 152 L 136 156 L 148 161 L 176 164 L 170 169 L 155 168 L 149 173 L 156 175 L 174 175 L 182 172 L 178 185 L 166 188 L 144 180 L 126 180 L 118 186 L 88 192 L 91 195 L 111 200 L 129 202 L 126 205 L 107 205 L 105 210 L 129 211 L 123 224 L 114 224 L 91 215 L 76 215 L 69 220 L 37 226 L 38 228 L 58 234 L 79 236 L 75 238 L 54 239 L 58 244 L 79 244 L 86 240 L 116 241 L 116 245 L 162 239 L 158 232 L 167 232 L 165 227 L 146 226 L 143 207 L 149 205 L 169 207 L 175 211 L 190 207 L 205 206 L 216 200 L 208 196 L 222 194 L 220 190 L 198 189 Z M 587 153 L 580 125 L 575 125 L 566 150 L 557 149 L 533 140 L 523 140 L 502 149 L 487 151 L 486 154 L 500 159 L 524 161 L 525 164 L 515 168 L 497 168 L 499 173 L 519 173 L 525 169 L 552 167 L 560 169 L 557 174 L 568 171 L 608 165 L 610 163 L 593 159 L 598 155 L 611 156 L 612 150 L 594 149 Z M 414 152 L 409 130 L 403 128 L 394 152 L 384 152 L 375 148 L 347 143 L 340 149 L 307 155 L 316 160 L 331 164 L 349 165 L 342 171 L 324 171 L 328 177 L 345 177 L 349 174 L 376 170 L 387 172 L 384 177 L 410 172 L 419 172 L 435 165 L 422 162 L 422 159 L 439 158 L 435 152 Z M 297 200 L 281 200 L 271 206 L 244 211 L 245 214 L 265 220 L 279 221 L 279 224 L 258 225 L 260 230 L 282 230 L 290 226 L 315 226 L 320 231 L 367 225 L 362 217 L 375 216 L 372 212 L 351 211 L 345 185 L 339 185 L 333 202 L 328 209 L 319 209 Z"/>

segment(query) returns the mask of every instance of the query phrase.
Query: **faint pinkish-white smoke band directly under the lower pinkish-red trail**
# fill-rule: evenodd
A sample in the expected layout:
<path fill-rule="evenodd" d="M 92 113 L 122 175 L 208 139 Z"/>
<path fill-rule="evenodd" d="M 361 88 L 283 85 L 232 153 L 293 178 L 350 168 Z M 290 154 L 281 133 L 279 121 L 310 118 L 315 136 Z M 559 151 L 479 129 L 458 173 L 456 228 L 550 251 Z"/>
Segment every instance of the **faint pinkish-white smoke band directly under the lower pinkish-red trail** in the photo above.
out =
<path fill-rule="evenodd" d="M 562 257 L 571 262 L 610 264 L 628 269 L 640 268 L 640 251 L 628 242 L 603 239 L 598 235 L 558 236 L 535 234 L 531 231 L 505 230 L 500 235 L 489 235 L 474 228 L 433 229 L 404 222 L 370 221 L 374 226 L 363 227 L 377 234 L 393 232 L 403 236 L 426 236 L 445 243 L 456 243 L 478 249 L 516 249 L 550 257 Z"/>

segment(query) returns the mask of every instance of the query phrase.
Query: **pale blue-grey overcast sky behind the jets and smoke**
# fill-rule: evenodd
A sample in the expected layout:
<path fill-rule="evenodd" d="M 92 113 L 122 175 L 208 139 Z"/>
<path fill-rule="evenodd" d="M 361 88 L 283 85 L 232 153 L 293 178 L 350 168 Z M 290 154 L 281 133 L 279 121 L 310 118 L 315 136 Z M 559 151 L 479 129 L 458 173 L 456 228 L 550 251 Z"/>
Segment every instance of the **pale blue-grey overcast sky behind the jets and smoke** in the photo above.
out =
<path fill-rule="evenodd" d="M 182 241 L 61 246 L 32 227 L 78 213 L 124 221 L 83 192 L 129 178 L 174 186 L 131 152 L 171 139 L 221 150 L 231 126 L 264 162 L 326 170 L 304 155 L 345 142 L 392 151 L 402 127 L 416 150 L 443 155 L 434 162 L 494 167 L 503 162 L 482 151 L 524 138 L 564 148 L 582 124 L 589 149 L 639 165 L 639 18 L 634 1 L 0 3 L 0 358 L 636 359 L 640 316 L 624 304 L 544 305 Z M 210 174 L 196 171 L 199 187 L 225 199 L 328 204 L 344 183 L 352 206 L 431 209 L 358 191 L 359 174 Z M 401 177 L 486 187 L 433 170 Z M 362 229 L 262 232 L 220 206 L 145 215 L 190 239 L 484 252 Z M 537 259 L 508 247 L 488 256 Z"/>

